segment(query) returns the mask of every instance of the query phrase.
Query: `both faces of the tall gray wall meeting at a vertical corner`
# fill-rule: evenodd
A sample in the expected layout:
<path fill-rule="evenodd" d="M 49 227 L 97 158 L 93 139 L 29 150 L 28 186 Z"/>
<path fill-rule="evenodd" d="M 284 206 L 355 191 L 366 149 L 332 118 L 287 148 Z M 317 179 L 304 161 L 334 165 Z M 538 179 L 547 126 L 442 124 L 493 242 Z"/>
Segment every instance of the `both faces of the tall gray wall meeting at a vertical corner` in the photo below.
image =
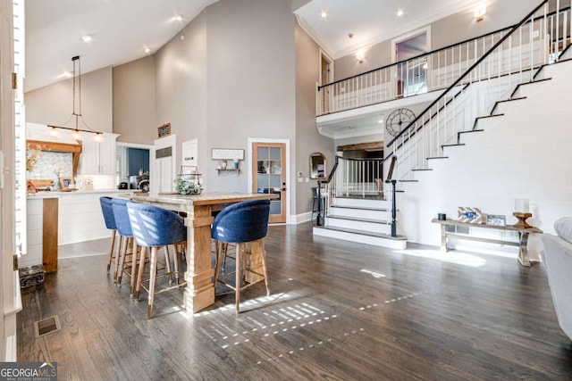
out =
<path fill-rule="evenodd" d="M 250 191 L 246 160 L 238 177 L 219 176 L 211 160 L 212 148 L 244 149 L 246 156 L 248 138 L 290 139 L 293 176 L 294 22 L 290 2 L 222 0 L 156 54 L 156 124 L 171 122 L 177 152 L 181 142 L 198 138 L 206 190 Z M 181 157 L 176 161 L 180 166 Z"/>

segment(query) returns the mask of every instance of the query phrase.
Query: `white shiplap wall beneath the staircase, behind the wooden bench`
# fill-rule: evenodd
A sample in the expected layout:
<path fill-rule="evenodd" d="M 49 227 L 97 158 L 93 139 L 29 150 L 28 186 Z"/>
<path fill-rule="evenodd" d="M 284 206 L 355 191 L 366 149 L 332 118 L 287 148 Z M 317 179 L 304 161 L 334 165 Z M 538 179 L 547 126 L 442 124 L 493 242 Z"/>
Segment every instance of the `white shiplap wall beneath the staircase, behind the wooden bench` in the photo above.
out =
<path fill-rule="evenodd" d="M 527 221 L 544 233 L 572 215 L 572 62 L 545 70 L 550 81 L 521 87 L 525 100 L 502 104 L 503 117 L 479 121 L 484 132 L 446 151 L 449 159 L 433 161 L 432 171 L 417 172 L 418 183 L 401 186 L 400 226 L 409 241 L 440 244 L 440 228 L 431 219 L 440 212 L 456 219 L 458 206 L 503 214 L 514 224 L 514 200 L 527 198 L 533 213 Z M 541 247 L 540 236 L 531 235 L 531 259 Z"/>

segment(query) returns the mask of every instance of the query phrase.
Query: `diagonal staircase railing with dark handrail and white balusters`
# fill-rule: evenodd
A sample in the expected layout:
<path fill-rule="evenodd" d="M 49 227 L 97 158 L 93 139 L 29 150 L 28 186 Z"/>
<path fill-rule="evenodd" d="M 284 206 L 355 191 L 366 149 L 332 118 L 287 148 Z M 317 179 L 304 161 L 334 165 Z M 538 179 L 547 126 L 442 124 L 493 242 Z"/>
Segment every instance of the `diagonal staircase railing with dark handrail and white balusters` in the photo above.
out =
<path fill-rule="evenodd" d="M 430 160 L 444 157 L 444 146 L 457 145 L 459 134 L 478 129 L 479 118 L 494 115 L 495 105 L 511 99 L 518 84 L 533 81 L 538 68 L 557 61 L 570 44 L 571 21 L 569 6 L 560 9 L 559 0 L 545 0 L 502 32 L 488 52 L 467 60 L 468 69 L 388 143 L 386 151 L 392 152 L 386 159 L 398 158 L 395 178 L 412 180 L 415 170 L 428 170 Z"/>

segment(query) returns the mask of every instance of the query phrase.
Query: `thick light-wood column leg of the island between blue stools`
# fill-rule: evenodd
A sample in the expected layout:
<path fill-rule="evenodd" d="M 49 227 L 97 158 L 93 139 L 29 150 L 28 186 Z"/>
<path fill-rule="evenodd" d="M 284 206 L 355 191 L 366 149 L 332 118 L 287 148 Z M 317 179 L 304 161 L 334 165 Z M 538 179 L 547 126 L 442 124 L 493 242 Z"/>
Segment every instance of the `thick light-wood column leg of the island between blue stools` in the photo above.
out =
<path fill-rule="evenodd" d="M 193 205 L 185 219 L 187 226 L 187 272 L 185 310 L 198 312 L 214 303 L 214 269 L 211 263 L 211 208 Z"/>

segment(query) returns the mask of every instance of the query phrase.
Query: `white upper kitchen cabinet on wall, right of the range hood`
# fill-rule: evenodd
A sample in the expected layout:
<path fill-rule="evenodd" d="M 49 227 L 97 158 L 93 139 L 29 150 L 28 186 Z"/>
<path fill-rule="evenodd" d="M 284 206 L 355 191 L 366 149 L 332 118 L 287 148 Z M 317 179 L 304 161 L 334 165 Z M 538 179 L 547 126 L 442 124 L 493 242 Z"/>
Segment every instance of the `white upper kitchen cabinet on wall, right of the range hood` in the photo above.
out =
<path fill-rule="evenodd" d="M 115 175 L 116 142 L 119 135 L 104 133 L 103 142 L 84 139 L 80 155 L 81 175 Z"/>

